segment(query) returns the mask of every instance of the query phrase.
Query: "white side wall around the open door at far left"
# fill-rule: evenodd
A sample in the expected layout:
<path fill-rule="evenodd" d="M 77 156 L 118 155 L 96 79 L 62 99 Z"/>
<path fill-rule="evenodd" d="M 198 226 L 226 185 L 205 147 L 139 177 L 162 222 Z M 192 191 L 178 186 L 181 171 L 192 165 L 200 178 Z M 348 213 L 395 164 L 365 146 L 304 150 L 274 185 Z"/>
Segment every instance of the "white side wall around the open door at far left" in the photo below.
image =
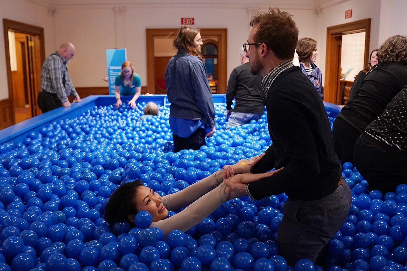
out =
<path fill-rule="evenodd" d="M 53 40 L 52 20 L 48 15 L 47 8 L 33 4 L 26 0 L 0 0 L 0 17 L 44 28 L 46 53 L 51 52 Z M 3 29 L 3 20 L 0 22 Z M 0 100 L 9 98 L 7 86 L 7 67 L 4 49 L 4 35 L 0 35 Z"/>

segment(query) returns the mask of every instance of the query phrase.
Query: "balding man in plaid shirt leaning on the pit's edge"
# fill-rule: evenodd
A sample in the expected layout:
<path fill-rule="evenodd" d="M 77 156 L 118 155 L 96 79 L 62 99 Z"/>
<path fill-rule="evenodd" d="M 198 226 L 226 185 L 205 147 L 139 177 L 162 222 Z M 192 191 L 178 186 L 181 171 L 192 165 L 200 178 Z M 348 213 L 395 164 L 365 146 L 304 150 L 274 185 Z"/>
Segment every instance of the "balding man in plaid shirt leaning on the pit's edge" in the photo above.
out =
<path fill-rule="evenodd" d="M 66 42 L 48 56 L 42 64 L 41 89 L 37 98 L 37 104 L 42 113 L 61 106 L 70 107 L 69 95 L 74 98 L 75 102 L 81 101 L 68 74 L 68 67 L 66 67 L 74 55 L 75 47 L 72 43 Z"/>

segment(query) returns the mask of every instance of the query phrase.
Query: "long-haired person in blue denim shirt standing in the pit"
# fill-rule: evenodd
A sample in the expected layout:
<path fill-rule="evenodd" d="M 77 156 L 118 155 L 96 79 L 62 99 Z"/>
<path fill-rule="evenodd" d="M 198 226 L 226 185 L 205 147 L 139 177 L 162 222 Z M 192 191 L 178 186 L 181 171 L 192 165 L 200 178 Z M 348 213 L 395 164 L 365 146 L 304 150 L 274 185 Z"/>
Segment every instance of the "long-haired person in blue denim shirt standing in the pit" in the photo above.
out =
<path fill-rule="evenodd" d="M 165 71 L 175 152 L 199 150 L 205 137 L 212 137 L 215 132 L 215 111 L 202 62 L 202 44 L 199 29 L 182 26 L 173 42 L 178 52 L 168 61 Z"/>

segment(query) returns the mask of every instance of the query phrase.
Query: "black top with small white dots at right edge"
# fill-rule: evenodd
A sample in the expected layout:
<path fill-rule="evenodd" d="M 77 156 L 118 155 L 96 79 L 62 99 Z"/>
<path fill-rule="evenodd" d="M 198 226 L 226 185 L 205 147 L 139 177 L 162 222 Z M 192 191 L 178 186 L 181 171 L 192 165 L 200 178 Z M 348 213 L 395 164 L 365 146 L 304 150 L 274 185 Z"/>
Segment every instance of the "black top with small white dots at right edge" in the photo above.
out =
<path fill-rule="evenodd" d="M 407 151 L 406 87 L 387 104 L 383 114 L 366 127 L 365 133 L 376 138 L 381 145 Z"/>

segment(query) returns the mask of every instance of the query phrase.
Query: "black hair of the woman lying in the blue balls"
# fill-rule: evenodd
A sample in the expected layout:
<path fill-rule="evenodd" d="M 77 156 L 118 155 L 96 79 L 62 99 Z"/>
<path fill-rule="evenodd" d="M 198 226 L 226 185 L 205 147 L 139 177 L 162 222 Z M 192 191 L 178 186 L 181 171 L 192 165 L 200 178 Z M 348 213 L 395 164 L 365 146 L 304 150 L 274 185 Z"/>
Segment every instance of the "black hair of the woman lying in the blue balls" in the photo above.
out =
<path fill-rule="evenodd" d="M 106 204 L 103 217 L 110 227 L 113 227 L 114 223 L 120 221 L 127 221 L 131 224 L 127 217 L 132 214 L 136 215 L 138 212 L 134 197 L 140 186 L 142 186 L 142 182 L 139 180 L 126 182 L 112 193 Z"/>

